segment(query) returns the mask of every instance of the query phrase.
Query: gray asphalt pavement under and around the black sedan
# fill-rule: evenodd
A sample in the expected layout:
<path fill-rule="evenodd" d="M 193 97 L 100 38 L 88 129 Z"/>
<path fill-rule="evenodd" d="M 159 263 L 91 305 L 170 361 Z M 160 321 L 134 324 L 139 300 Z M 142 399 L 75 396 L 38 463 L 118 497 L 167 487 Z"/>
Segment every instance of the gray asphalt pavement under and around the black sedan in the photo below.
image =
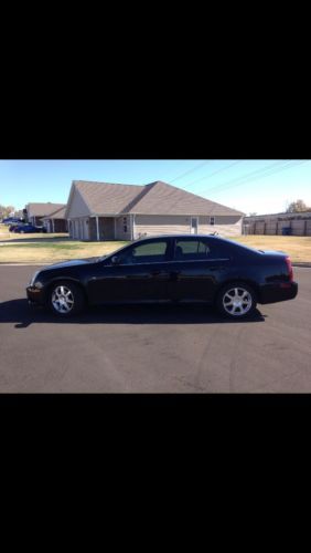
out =
<path fill-rule="evenodd" d="M 35 267 L 0 267 L 1 393 L 311 392 L 311 269 L 296 300 L 245 322 L 204 305 L 93 307 L 71 321 L 33 309 Z"/>

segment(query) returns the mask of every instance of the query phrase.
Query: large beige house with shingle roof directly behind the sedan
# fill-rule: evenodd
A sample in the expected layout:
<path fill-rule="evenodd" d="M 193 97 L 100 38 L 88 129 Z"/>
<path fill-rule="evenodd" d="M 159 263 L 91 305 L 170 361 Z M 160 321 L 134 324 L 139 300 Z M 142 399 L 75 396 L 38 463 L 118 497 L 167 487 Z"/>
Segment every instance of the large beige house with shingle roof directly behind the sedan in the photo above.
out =
<path fill-rule="evenodd" d="M 157 180 L 144 186 L 74 180 L 65 217 L 78 240 L 170 233 L 242 233 L 243 212 Z"/>

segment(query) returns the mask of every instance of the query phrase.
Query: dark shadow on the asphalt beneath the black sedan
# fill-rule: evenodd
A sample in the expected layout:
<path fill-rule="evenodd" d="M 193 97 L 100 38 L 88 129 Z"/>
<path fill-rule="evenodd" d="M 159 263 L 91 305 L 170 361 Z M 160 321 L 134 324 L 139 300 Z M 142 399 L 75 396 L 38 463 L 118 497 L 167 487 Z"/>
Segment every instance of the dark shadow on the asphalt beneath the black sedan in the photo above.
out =
<path fill-rule="evenodd" d="M 0 304 L 0 323 L 15 323 L 15 328 L 26 328 L 34 323 L 53 324 L 236 324 L 264 322 L 265 316 L 256 310 L 254 315 L 242 321 L 222 317 L 214 307 L 204 304 L 144 304 L 99 305 L 84 313 L 61 319 L 45 307 L 29 305 L 28 300 L 11 300 Z"/>

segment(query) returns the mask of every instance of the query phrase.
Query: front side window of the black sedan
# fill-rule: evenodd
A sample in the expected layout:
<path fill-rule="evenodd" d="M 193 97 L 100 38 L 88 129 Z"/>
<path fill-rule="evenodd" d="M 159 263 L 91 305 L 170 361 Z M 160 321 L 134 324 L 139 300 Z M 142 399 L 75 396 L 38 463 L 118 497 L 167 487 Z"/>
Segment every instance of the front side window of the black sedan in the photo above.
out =
<path fill-rule="evenodd" d="M 167 259 L 168 241 L 136 244 L 120 255 L 121 264 L 161 263 Z"/>

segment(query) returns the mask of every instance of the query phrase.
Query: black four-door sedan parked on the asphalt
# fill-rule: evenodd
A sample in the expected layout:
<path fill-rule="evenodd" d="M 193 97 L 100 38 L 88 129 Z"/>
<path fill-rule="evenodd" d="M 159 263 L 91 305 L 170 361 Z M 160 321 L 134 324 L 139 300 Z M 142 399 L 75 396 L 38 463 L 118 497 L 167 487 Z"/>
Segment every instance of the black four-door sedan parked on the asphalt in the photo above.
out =
<path fill-rule="evenodd" d="M 205 302 L 239 320 L 257 303 L 292 300 L 297 292 L 286 253 L 206 234 L 149 238 L 104 258 L 50 265 L 26 288 L 30 303 L 62 317 L 86 304 Z"/>

